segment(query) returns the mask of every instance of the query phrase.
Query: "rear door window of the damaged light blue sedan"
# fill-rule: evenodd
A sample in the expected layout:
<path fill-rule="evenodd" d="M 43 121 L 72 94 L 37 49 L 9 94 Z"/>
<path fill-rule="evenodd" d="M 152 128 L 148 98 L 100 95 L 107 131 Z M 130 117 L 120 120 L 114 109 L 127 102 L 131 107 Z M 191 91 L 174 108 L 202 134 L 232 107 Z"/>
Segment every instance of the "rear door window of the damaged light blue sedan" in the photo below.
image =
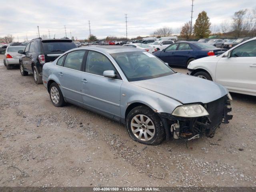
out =
<path fill-rule="evenodd" d="M 66 68 L 80 71 L 84 58 L 84 53 L 85 50 L 72 51 L 68 53 L 63 66 Z"/>

